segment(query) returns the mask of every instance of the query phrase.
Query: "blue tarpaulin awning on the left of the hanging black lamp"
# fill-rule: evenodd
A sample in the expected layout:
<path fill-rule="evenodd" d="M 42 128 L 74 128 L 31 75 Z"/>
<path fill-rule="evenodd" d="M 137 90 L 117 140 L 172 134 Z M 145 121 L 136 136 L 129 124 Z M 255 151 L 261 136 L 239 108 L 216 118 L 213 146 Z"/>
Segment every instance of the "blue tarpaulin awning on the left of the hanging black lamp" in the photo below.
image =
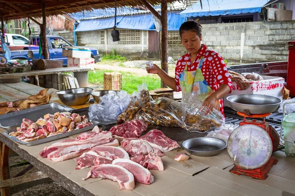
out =
<path fill-rule="evenodd" d="M 122 20 L 123 16 L 117 17 L 117 25 Z M 115 17 L 83 20 L 79 23 L 75 31 L 91 31 L 113 28 L 115 25 Z"/>

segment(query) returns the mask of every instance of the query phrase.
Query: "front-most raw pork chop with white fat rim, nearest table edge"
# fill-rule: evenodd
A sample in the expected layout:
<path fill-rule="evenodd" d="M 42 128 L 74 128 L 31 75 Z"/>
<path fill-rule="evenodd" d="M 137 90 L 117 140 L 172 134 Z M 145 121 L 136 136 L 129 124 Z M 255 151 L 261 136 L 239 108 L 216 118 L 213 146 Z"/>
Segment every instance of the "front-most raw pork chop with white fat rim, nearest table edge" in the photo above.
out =
<path fill-rule="evenodd" d="M 133 190 L 135 187 L 133 174 L 118 165 L 104 164 L 97 166 L 91 169 L 87 174 L 87 177 L 83 178 L 82 180 L 87 180 L 90 177 L 110 179 L 114 182 L 118 182 L 120 190 Z"/>

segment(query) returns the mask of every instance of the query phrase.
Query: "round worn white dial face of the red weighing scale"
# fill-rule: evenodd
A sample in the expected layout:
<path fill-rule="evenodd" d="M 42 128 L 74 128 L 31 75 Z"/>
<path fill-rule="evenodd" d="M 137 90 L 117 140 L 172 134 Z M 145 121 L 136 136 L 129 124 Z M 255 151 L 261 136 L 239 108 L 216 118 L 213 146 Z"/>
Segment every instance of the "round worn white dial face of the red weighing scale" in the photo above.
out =
<path fill-rule="evenodd" d="M 271 157 L 272 142 L 263 128 L 246 124 L 230 135 L 227 150 L 237 166 L 254 170 L 265 165 Z"/>

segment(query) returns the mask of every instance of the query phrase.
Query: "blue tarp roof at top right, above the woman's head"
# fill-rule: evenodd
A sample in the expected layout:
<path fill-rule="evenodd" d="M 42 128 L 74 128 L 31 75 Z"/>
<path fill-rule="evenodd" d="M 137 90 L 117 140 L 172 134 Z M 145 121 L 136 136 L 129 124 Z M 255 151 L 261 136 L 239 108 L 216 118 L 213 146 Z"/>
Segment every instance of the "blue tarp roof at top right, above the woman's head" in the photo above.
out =
<path fill-rule="evenodd" d="M 261 12 L 270 0 L 203 0 L 180 12 L 181 17 L 219 16 Z"/>

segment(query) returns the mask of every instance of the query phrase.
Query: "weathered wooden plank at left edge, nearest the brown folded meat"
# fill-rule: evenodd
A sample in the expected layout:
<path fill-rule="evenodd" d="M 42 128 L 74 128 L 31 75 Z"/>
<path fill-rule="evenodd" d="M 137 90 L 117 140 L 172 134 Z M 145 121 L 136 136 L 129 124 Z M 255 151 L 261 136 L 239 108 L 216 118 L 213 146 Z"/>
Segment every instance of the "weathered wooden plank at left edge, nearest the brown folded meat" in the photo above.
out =
<path fill-rule="evenodd" d="M 15 101 L 30 96 L 27 93 L 23 93 L 3 84 L 0 84 L 0 95 L 1 98 L 6 99 L 7 101 Z"/>

